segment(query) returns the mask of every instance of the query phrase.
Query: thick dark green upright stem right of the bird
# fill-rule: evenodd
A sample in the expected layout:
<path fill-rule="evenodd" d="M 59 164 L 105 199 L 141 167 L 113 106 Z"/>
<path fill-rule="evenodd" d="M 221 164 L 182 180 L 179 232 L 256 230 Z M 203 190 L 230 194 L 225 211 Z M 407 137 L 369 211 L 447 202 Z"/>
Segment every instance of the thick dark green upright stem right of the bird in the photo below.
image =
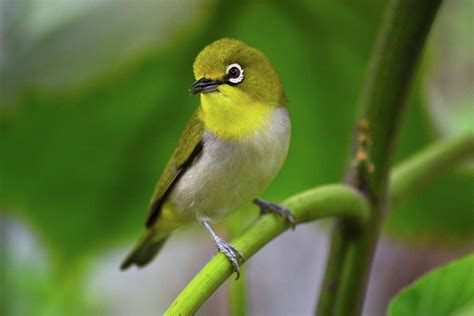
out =
<path fill-rule="evenodd" d="M 390 0 L 359 101 L 347 182 L 370 201 L 357 234 L 347 221 L 333 231 L 317 315 L 359 315 L 387 209 L 387 182 L 407 97 L 441 0 Z M 335 262 L 343 258 L 343 263 Z M 336 266 L 337 268 L 334 268 Z"/>

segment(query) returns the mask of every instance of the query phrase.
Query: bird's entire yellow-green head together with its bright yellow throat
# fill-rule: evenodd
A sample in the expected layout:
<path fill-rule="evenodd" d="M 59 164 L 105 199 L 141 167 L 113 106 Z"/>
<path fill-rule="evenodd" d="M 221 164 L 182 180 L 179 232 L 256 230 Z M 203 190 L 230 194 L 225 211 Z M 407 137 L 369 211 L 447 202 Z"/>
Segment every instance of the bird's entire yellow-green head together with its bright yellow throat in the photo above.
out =
<path fill-rule="evenodd" d="M 218 136 L 241 139 L 286 107 L 280 78 L 257 49 L 233 39 L 206 46 L 194 62 L 192 94 L 201 94 L 201 119 Z"/>

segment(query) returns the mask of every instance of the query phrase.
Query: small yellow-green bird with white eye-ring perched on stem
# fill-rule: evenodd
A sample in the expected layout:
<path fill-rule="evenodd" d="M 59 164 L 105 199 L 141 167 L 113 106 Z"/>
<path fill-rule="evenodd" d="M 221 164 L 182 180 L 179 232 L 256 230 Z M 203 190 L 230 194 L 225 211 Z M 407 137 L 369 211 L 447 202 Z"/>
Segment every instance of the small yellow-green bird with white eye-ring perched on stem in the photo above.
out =
<path fill-rule="evenodd" d="M 276 213 L 294 229 L 286 207 L 259 196 L 286 160 L 291 138 L 280 77 L 258 49 L 230 38 L 207 45 L 193 64 L 191 95 L 200 104 L 187 123 L 150 200 L 146 231 L 121 264 L 143 267 L 179 227 L 200 222 L 237 278 L 244 255 L 213 223 L 247 204 Z"/>

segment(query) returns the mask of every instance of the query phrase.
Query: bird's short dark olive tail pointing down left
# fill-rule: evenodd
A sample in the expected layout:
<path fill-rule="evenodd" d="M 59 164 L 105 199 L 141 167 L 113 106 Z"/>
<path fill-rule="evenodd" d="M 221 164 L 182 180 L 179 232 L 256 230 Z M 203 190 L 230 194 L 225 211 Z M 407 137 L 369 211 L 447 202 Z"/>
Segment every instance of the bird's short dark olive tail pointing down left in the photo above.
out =
<path fill-rule="evenodd" d="M 120 270 L 126 270 L 133 264 L 138 267 L 145 266 L 158 254 L 168 236 L 169 233 L 157 233 L 154 230 L 148 230 L 122 262 Z"/>

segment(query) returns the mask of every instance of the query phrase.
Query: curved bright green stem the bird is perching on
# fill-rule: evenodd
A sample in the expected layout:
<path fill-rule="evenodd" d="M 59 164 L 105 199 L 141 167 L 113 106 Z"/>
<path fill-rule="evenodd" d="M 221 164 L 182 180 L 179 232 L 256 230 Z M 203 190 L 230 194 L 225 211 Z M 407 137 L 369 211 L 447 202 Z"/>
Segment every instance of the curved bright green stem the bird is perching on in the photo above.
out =
<path fill-rule="evenodd" d="M 283 204 L 292 210 L 297 223 L 341 217 L 363 224 L 368 216 L 366 199 L 356 190 L 341 184 L 297 194 Z M 288 223 L 277 215 L 262 216 L 231 243 L 249 259 L 288 228 Z M 229 260 L 221 253 L 216 254 L 179 294 L 165 315 L 194 314 L 231 274 Z"/>

